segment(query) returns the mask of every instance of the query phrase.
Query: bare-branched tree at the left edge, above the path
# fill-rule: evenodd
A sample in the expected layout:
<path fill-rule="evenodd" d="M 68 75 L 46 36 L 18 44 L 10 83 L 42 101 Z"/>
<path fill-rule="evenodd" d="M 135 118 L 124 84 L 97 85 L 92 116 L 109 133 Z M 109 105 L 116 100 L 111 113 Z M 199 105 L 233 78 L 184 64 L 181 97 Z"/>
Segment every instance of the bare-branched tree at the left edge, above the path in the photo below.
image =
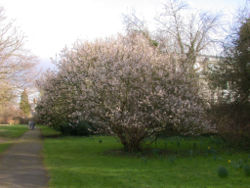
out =
<path fill-rule="evenodd" d="M 24 50 L 24 36 L 0 7 L 0 104 L 11 101 L 16 90 L 31 83 L 36 58 Z"/>

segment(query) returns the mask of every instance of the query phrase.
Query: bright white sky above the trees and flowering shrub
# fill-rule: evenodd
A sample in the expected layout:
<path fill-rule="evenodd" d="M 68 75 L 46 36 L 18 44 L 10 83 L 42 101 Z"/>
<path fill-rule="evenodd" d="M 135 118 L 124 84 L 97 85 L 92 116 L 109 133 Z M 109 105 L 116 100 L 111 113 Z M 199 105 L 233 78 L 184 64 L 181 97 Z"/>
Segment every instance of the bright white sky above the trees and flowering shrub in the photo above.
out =
<path fill-rule="evenodd" d="M 225 19 L 246 0 L 186 0 L 195 9 L 223 13 Z M 76 40 L 94 40 L 123 32 L 122 15 L 132 10 L 149 26 L 164 0 L 0 0 L 7 18 L 26 36 L 25 47 L 44 67 Z"/>

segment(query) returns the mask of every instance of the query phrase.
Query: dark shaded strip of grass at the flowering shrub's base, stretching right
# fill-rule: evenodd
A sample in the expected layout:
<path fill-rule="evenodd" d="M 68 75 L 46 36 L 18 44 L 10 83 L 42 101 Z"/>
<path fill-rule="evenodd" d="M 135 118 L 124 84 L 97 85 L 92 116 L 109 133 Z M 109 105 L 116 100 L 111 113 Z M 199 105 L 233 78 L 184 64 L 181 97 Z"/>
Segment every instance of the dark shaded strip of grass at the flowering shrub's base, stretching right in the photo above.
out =
<path fill-rule="evenodd" d="M 179 138 L 170 137 L 159 139 L 156 143 L 145 144 L 138 152 L 127 152 L 123 148 L 112 149 L 103 152 L 110 156 L 130 156 L 130 157 L 149 157 L 149 158 L 168 158 L 168 157 L 213 157 L 218 158 L 221 154 L 230 154 L 239 151 L 239 148 L 232 148 L 220 138 L 197 137 Z"/>

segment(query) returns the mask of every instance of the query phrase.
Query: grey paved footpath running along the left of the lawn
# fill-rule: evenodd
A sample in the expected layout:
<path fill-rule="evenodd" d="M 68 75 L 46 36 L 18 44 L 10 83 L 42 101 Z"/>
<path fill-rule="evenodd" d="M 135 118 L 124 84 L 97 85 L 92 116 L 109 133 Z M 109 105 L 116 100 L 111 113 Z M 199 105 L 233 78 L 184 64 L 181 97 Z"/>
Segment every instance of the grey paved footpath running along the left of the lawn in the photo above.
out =
<path fill-rule="evenodd" d="M 38 129 L 27 131 L 0 156 L 0 188 L 46 188 L 42 141 Z"/>

